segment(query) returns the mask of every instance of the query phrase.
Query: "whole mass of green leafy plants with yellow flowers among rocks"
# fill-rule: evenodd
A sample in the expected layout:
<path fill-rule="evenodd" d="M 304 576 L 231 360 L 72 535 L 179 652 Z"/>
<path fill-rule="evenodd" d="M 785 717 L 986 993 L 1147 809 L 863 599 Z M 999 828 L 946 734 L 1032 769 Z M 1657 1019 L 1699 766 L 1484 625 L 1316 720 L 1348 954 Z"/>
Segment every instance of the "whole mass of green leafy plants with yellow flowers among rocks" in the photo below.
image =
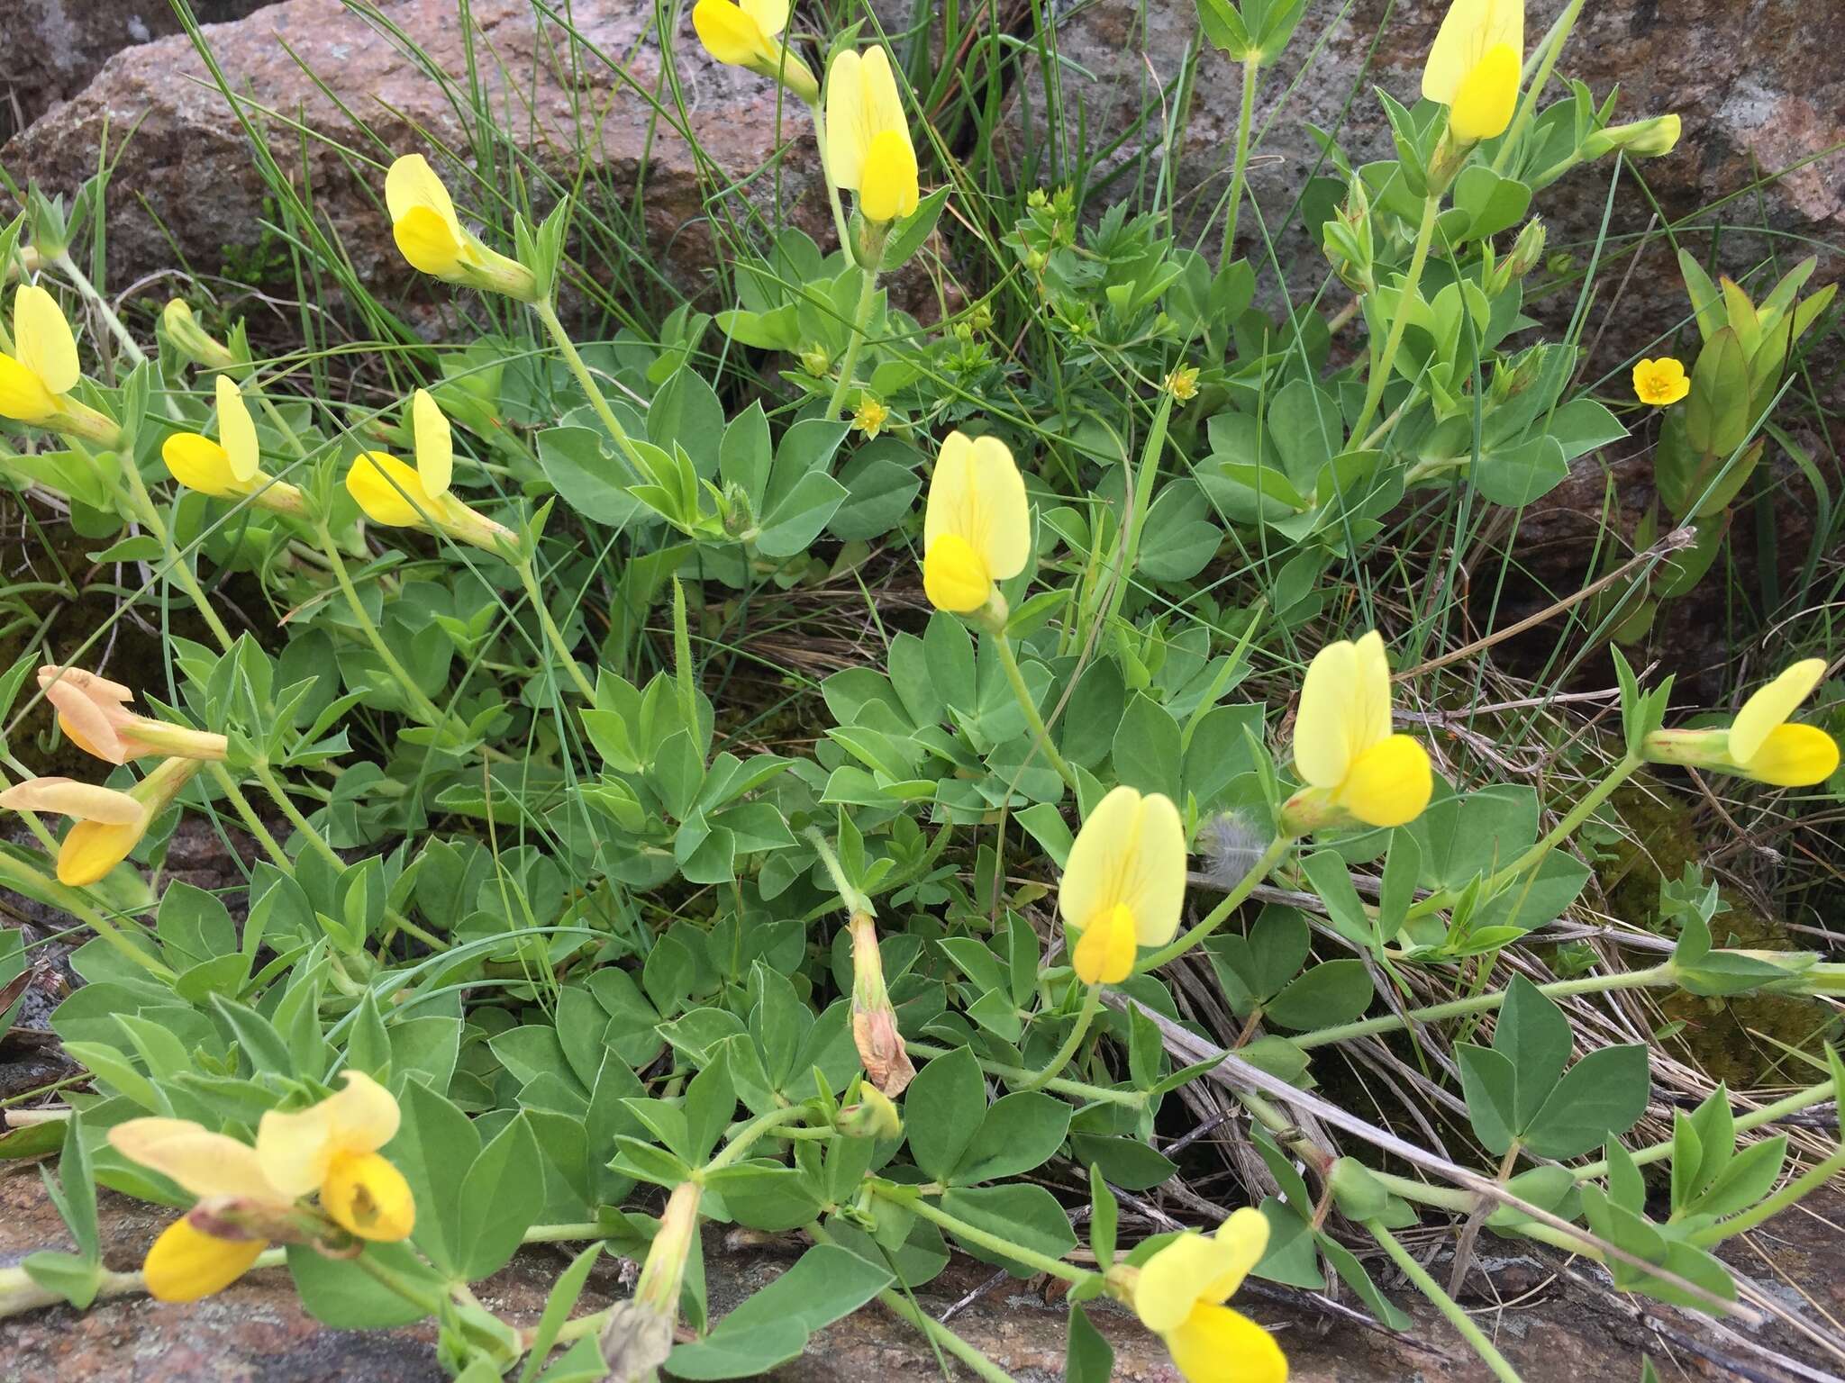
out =
<path fill-rule="evenodd" d="M 1397 1237 L 1424 1213 L 1744 1311 L 1712 1248 L 1845 1152 L 1784 1180 L 1786 1138 L 1749 1138 L 1773 1114 L 1734 1117 L 1723 1090 L 1646 1141 L 1648 1049 L 1581 1040 L 1559 1001 L 1845 975 L 1720 944 L 1701 876 L 1649 968 L 1533 983 L 1506 957 L 1577 904 L 1572 841 L 1648 765 L 1836 784 L 1834 736 L 1795 719 L 1825 658 L 1686 717 L 1613 651 L 1620 730 L 1600 758 L 1553 747 L 1581 784 L 1553 808 L 1439 751 L 1430 727 L 1467 706 L 1406 692 L 1456 658 L 1338 586 L 1406 503 L 1517 509 L 1627 435 L 1574 382 L 1574 341 L 1524 315 L 1533 197 L 1679 135 L 1609 124 L 1579 83 L 1546 103 L 1579 7 L 1528 52 L 1520 0 L 1456 0 L 1421 100 L 1380 92 L 1395 157 L 1328 142 L 1336 325 L 1256 306 L 1234 254 L 1253 92 L 1299 0 L 1199 0 L 1245 98 L 1218 262 L 1151 214 L 1035 192 L 996 240 L 1002 282 L 932 326 L 891 286 L 956 184 L 924 190 L 884 42 L 847 30 L 810 66 L 779 0 L 692 18 L 812 112 L 839 245 L 784 229 L 727 266 L 732 306 L 651 337 L 566 328 L 572 197 L 494 247 L 404 153 L 380 179 L 404 260 L 513 315 L 382 404 L 317 395 L 186 301 L 144 349 L 72 258 L 89 194 L 33 192 L 0 234 L 0 415 L 30 437 L 0 474 L 94 562 L 148 573 L 124 599 L 161 610 L 168 666 L 133 688 L 89 669 L 100 636 L 35 640 L 0 677 L 0 706 L 48 703 L 98 762 L 79 782 L 4 760 L 31 841 L 0 845 L 0 883 L 87 935 L 52 1020 L 87 1079 L 0 1140 L 59 1152 L 76 1241 L 0 1271 L 0 1311 L 190 1300 L 286 1263 L 330 1324 L 434 1318 L 467 1383 L 565 1383 L 753 1376 L 880 1302 L 1004 1377 L 915 1300 L 963 1250 L 1066 1283 L 1072 1379 L 1109 1376 L 1090 1313 L 1113 1298 L 1194 1383 L 1279 1381 L 1282 1348 L 1229 1306 L 1249 1274 L 1338 1280 L 1408 1324 L 1358 1243 L 1515 1377 Z M 1710 566 L 1830 302 L 1799 297 L 1812 262 L 1760 304 L 1683 267 L 1703 350 L 1690 372 L 1642 360 L 1624 409 L 1660 411 L 1659 496 L 1688 533 L 1590 592 L 1627 640 Z M 1011 343 L 1006 293 L 1031 308 Z M 118 374 L 83 372 L 72 302 Z M 1334 367 L 1352 317 L 1367 341 Z M 1260 592 L 1223 577 L 1251 551 Z M 710 649 L 753 609 L 867 579 L 908 592 L 873 605 L 869 662 L 817 686 L 775 669 L 768 706 L 727 695 Z M 273 627 L 232 634 L 227 581 Z M 1256 680 L 1277 704 L 1240 693 Z M 775 728 L 788 704 L 808 719 Z M 247 889 L 155 885 L 184 815 L 255 843 Z M 1249 915 L 1258 891 L 1286 902 Z M 1179 975 L 1240 1031 L 1218 1040 Z M 1483 1171 L 1325 1117 L 1315 1053 L 1435 1033 Z M 1832 1099 L 1845 1071 L 1817 1060 L 1775 1112 Z M 1268 1182 L 1125 1243 L 1122 1195 L 1175 1173 L 1155 1134 L 1197 1082 L 1240 1103 Z M 137 1272 L 101 1263 L 98 1186 L 173 1208 Z M 801 1258 L 710 1320 L 707 1223 L 797 1234 Z M 520 1328 L 470 1283 L 535 1241 L 587 1247 Z M 603 1252 L 640 1259 L 638 1285 L 579 1313 Z"/>

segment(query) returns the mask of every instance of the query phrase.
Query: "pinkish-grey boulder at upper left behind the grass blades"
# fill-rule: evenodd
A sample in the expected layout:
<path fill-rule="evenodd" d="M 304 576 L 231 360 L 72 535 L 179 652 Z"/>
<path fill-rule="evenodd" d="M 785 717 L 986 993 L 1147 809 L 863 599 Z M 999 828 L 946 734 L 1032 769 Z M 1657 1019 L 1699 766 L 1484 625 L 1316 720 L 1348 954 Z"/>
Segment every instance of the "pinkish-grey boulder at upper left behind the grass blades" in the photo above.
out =
<path fill-rule="evenodd" d="M 576 46 L 559 24 L 535 20 L 530 0 L 476 0 L 472 33 L 454 0 L 382 0 L 376 13 L 382 22 L 339 0 L 286 0 L 203 33 L 280 168 L 310 192 L 321 227 L 380 295 L 411 280 L 382 208 L 391 157 L 430 153 L 463 216 L 511 186 L 504 168 L 489 188 L 441 155 L 459 151 L 472 168 L 469 151 L 482 144 L 507 157 L 504 144 L 476 140 L 467 124 L 474 109 L 493 112 L 530 155 L 520 175 L 541 210 L 555 201 L 550 179 L 574 177 L 585 151 L 579 221 L 594 219 L 601 240 L 625 242 L 644 266 L 664 260 L 696 275 L 710 262 L 708 218 L 725 227 L 773 218 L 777 183 L 780 205 L 801 208 L 810 230 L 830 225 L 806 112 L 788 101 L 777 109 L 771 83 L 712 63 L 690 20 L 675 39 L 681 116 L 653 6 L 576 0 Z M 474 98 L 465 89 L 470 52 Z M 681 120 L 699 155 L 679 135 Z M 175 247 L 201 273 L 227 262 L 260 271 L 262 256 L 282 249 L 266 240 L 262 223 L 275 208 L 244 131 L 186 35 L 116 53 L 89 89 L 0 149 L 0 164 L 22 183 L 68 194 L 94 171 L 105 125 L 113 142 L 135 129 L 111 179 L 111 282 L 173 267 Z M 758 177 L 771 162 L 771 175 Z M 718 195 L 731 186 L 747 186 L 749 197 Z"/>

